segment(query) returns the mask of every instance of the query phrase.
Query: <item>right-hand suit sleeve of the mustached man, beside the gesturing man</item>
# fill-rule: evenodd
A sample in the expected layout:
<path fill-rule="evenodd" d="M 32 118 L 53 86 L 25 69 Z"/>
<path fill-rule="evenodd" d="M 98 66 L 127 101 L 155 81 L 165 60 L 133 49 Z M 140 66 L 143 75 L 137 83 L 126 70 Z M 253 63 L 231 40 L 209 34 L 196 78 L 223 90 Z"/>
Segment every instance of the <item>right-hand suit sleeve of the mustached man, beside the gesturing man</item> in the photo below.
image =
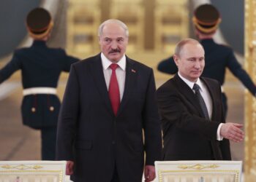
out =
<path fill-rule="evenodd" d="M 157 111 L 156 86 L 152 70 L 148 80 L 146 102 L 143 108 L 143 129 L 145 135 L 146 165 L 154 165 L 155 161 L 161 159 L 162 133 Z"/>

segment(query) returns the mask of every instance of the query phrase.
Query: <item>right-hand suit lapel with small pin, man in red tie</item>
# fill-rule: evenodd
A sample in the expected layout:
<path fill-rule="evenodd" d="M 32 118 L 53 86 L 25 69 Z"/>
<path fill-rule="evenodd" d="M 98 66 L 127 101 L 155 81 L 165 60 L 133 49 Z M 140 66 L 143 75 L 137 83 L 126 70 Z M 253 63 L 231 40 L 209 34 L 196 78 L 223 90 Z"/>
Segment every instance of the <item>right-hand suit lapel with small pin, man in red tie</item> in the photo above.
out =
<path fill-rule="evenodd" d="M 136 74 L 135 65 L 133 61 L 127 57 L 127 68 L 126 68 L 126 76 L 125 76 L 125 83 L 124 83 L 124 95 L 121 100 L 117 116 L 121 113 L 127 101 L 129 100 L 129 95 L 132 91 L 133 85 L 135 84 L 136 76 L 137 74 Z"/>

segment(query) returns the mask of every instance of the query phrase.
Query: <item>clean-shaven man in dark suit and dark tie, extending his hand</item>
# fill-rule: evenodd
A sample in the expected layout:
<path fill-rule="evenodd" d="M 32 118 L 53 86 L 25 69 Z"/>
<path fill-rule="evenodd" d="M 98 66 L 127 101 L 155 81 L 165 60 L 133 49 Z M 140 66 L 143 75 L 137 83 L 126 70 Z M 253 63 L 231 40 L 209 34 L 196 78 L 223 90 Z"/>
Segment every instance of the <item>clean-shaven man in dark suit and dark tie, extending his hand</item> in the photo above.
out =
<path fill-rule="evenodd" d="M 195 39 L 178 42 L 178 74 L 157 90 L 164 160 L 230 160 L 228 139 L 244 138 L 241 124 L 225 123 L 219 83 L 200 77 L 204 53 Z"/>

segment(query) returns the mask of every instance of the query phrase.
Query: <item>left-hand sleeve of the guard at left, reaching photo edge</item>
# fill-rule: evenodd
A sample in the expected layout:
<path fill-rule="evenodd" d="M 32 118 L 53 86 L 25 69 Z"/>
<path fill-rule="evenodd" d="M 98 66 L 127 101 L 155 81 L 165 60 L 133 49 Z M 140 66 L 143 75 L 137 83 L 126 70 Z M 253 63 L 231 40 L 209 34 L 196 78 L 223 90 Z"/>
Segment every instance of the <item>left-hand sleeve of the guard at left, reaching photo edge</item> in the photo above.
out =
<path fill-rule="evenodd" d="M 10 76 L 12 76 L 12 74 L 15 71 L 18 71 L 20 68 L 21 63 L 20 60 L 18 59 L 18 53 L 15 52 L 12 57 L 12 60 L 10 60 L 10 62 L 7 63 L 7 65 L 0 70 L 0 84 L 1 82 L 4 82 L 4 80 L 9 79 Z"/>

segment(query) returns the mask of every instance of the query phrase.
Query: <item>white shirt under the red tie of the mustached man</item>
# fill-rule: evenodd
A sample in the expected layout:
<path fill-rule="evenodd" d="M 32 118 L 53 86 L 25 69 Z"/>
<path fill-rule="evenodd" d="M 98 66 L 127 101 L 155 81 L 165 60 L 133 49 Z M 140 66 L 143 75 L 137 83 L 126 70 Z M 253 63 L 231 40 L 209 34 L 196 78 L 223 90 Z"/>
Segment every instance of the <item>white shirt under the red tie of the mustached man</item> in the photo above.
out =
<path fill-rule="evenodd" d="M 107 88 L 109 88 L 110 84 L 110 78 L 112 74 L 112 70 L 109 67 L 112 62 L 108 60 L 108 58 L 105 57 L 103 53 L 100 54 L 102 58 L 102 67 L 103 67 L 103 74 L 105 77 L 105 82 L 107 85 Z M 125 83 L 125 68 L 127 66 L 127 59 L 125 55 L 117 62 L 118 67 L 116 68 L 116 78 L 118 82 L 118 87 L 119 87 L 119 93 L 120 93 L 120 101 L 123 98 L 124 95 L 124 83 Z"/>

